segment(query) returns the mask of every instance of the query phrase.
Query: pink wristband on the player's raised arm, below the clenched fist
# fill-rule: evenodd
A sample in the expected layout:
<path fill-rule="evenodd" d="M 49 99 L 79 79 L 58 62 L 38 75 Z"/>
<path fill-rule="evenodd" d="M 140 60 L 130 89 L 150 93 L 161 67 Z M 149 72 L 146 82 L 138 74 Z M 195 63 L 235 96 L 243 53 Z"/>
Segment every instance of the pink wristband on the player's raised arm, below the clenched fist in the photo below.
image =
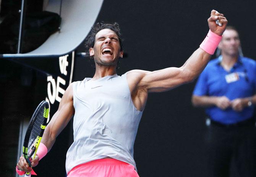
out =
<path fill-rule="evenodd" d="M 219 36 L 214 32 L 212 32 L 211 30 L 209 30 L 206 38 L 201 43 L 200 48 L 206 51 L 207 53 L 213 55 L 221 39 L 222 39 L 222 36 Z"/>

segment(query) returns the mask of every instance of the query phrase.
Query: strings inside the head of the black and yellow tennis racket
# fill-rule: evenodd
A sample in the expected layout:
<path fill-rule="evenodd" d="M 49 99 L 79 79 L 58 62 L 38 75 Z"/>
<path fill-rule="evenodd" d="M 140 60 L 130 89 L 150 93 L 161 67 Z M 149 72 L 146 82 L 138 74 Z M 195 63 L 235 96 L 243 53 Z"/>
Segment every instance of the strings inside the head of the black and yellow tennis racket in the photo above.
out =
<path fill-rule="evenodd" d="M 37 119 L 34 122 L 34 125 L 32 127 L 31 130 L 31 134 L 29 137 L 29 142 L 28 142 L 28 158 L 31 158 L 31 156 L 34 154 L 35 150 L 36 150 L 36 143 L 38 143 L 37 141 L 37 137 L 40 134 L 40 132 L 42 131 L 41 129 L 41 124 L 43 124 L 44 122 L 44 106 L 42 106 L 38 111 L 37 111 L 37 115 L 36 115 Z"/>

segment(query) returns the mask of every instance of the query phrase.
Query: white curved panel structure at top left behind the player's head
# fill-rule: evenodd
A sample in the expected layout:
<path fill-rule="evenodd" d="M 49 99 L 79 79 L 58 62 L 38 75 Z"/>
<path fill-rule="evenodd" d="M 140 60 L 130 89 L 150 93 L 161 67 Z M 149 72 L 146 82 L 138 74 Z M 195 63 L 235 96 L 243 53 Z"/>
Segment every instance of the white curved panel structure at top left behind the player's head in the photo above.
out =
<path fill-rule="evenodd" d="M 103 0 L 62 0 L 60 32 L 52 34 L 39 48 L 3 58 L 62 56 L 83 42 L 97 19 Z M 60 12 L 61 0 L 49 0 L 45 10 Z"/>

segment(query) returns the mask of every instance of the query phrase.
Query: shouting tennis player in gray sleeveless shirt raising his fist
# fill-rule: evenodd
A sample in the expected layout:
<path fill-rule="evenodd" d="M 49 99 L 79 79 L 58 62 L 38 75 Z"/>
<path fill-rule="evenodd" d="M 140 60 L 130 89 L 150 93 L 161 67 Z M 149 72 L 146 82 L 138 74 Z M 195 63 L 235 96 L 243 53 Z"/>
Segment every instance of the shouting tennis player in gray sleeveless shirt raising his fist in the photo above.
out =
<path fill-rule="evenodd" d="M 212 10 L 208 24 L 206 39 L 180 68 L 132 70 L 122 76 L 116 74 L 118 58 L 123 56 L 118 24 L 92 27 L 86 45 L 95 61 L 94 77 L 68 86 L 45 129 L 32 166 L 52 148 L 75 114 L 74 142 L 66 155 L 68 177 L 138 177 L 133 145 L 147 95 L 191 82 L 203 71 L 221 40 L 227 19 Z M 21 156 L 16 170 L 21 174 L 32 169 Z"/>

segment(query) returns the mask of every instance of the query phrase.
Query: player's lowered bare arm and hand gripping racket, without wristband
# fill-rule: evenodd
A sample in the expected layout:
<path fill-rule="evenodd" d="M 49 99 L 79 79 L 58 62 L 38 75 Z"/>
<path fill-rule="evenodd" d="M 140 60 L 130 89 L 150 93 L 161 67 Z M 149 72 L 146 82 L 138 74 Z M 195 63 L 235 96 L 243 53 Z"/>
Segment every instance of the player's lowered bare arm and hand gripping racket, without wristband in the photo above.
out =
<path fill-rule="evenodd" d="M 57 112 L 52 116 L 51 121 L 44 130 L 44 135 L 42 137 L 41 143 L 43 143 L 47 147 L 48 152 L 52 148 L 56 140 L 56 137 L 66 127 L 66 125 L 71 119 L 71 116 L 74 113 L 75 109 L 73 106 L 73 88 L 72 84 L 70 84 L 66 89 L 62 97 L 62 100 L 60 101 L 60 105 L 58 107 Z M 38 161 L 39 157 L 36 156 L 31 161 L 32 166 L 37 166 Z M 17 166 L 18 169 L 21 171 L 31 171 L 31 167 L 29 167 L 28 163 L 26 162 L 26 159 L 23 156 L 19 158 Z"/>

